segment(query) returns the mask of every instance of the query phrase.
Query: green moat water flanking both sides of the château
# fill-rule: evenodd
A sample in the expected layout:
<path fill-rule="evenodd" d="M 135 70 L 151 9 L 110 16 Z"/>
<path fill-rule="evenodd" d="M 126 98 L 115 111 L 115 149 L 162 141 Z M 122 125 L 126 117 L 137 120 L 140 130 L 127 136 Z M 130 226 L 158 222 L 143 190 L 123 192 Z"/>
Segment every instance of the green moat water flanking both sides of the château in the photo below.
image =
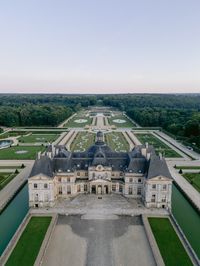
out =
<path fill-rule="evenodd" d="M 28 212 L 28 186 L 19 191 L 0 215 L 0 255 Z M 200 258 L 200 215 L 185 196 L 173 186 L 172 212 Z"/>

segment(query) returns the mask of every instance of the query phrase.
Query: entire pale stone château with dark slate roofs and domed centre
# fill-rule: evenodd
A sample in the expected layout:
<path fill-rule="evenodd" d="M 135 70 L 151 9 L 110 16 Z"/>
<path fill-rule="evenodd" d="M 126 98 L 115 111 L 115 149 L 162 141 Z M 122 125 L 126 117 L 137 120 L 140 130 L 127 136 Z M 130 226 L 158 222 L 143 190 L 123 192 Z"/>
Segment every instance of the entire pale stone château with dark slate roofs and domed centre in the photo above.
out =
<path fill-rule="evenodd" d="M 53 207 L 56 200 L 80 193 L 120 193 L 141 198 L 147 208 L 170 208 L 172 177 L 152 146 L 115 152 L 98 132 L 85 152 L 50 145 L 38 155 L 28 179 L 30 207 Z"/>

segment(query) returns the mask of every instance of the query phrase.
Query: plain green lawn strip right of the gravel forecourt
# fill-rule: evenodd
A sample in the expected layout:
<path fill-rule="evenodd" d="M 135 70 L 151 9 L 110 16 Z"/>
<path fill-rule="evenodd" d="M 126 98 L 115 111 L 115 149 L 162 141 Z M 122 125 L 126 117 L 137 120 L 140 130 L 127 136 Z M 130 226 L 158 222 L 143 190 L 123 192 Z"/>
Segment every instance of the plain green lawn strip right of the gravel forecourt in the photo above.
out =
<path fill-rule="evenodd" d="M 148 218 L 166 266 L 192 266 L 192 262 L 168 218 Z"/>

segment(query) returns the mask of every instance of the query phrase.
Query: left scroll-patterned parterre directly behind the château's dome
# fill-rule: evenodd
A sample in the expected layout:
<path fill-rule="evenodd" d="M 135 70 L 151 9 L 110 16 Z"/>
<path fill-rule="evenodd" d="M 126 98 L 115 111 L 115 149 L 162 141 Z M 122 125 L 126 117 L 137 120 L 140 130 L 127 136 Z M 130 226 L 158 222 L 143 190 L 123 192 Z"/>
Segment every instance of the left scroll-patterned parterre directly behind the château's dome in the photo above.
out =
<path fill-rule="evenodd" d="M 85 151 L 95 142 L 96 135 L 87 132 L 78 132 L 75 139 L 73 140 L 70 150 L 71 151 Z"/>

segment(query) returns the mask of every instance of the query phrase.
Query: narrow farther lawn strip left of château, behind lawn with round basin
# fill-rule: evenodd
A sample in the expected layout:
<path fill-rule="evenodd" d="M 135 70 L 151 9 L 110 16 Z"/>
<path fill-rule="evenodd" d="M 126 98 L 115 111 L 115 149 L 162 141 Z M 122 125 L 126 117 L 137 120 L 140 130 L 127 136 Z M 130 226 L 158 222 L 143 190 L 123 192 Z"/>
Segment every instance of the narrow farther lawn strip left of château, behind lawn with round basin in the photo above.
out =
<path fill-rule="evenodd" d="M 59 135 L 56 134 L 32 134 L 29 136 L 22 136 L 19 142 L 22 143 L 52 143 Z"/>

